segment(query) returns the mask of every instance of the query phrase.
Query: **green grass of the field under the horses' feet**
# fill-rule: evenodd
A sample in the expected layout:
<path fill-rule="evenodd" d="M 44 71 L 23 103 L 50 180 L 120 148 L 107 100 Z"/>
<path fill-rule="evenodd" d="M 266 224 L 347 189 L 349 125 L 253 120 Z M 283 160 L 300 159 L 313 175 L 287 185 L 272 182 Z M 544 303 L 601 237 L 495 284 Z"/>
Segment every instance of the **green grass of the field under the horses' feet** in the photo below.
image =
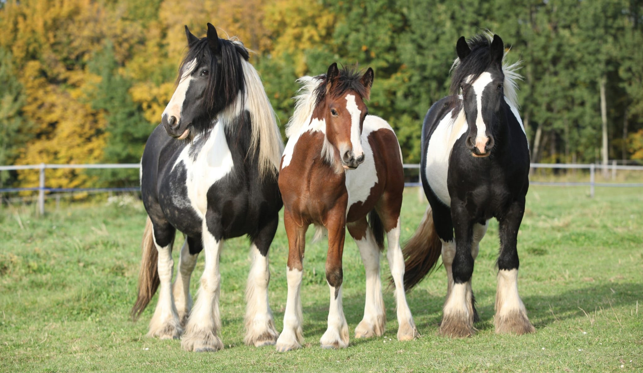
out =
<path fill-rule="evenodd" d="M 347 349 L 320 349 L 329 305 L 325 242 L 320 242 L 306 250 L 305 347 L 285 354 L 274 347 L 243 344 L 249 266 L 245 239 L 230 241 L 221 255 L 226 349 L 188 353 L 179 341 L 145 337 L 156 298 L 140 322 L 129 320 L 145 223 L 140 204 L 78 203 L 59 211 L 48 206 L 50 214 L 44 218 L 26 209 L 5 208 L 0 210 L 0 370 L 640 371 L 643 193 L 597 188 L 590 199 L 587 192 L 560 187 L 532 187 L 529 192 L 519 235 L 520 293 L 535 334 L 494 334 L 494 222 L 476 260 L 473 287 L 482 321 L 472 338 L 449 340 L 436 334 L 446 293 L 440 268 L 408 294 L 421 338 L 395 340 L 395 302 L 392 291 L 385 289 L 386 338 L 351 338 Z M 407 190 L 403 239 L 415 230 L 425 207 L 426 202 L 418 203 L 416 190 Z M 278 330 L 286 298 L 286 255 L 280 225 L 271 248 L 269 287 Z M 386 260 L 382 263 L 388 277 Z M 199 259 L 193 294 L 202 270 Z M 363 313 L 365 281 L 351 240 L 344 251 L 344 276 L 344 311 L 352 331 Z"/>

